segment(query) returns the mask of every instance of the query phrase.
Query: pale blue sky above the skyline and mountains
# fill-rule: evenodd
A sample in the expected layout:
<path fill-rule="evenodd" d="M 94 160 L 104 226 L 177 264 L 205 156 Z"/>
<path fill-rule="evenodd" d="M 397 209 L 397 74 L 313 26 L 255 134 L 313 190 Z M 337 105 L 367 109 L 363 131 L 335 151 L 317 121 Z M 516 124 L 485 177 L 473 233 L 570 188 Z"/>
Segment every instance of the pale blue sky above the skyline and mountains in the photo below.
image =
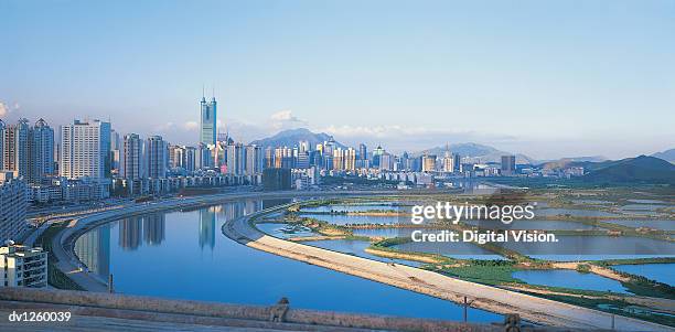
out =
<path fill-rule="evenodd" d="M 675 148 L 675 1 L 0 0 L 7 122 L 195 144 L 203 89 L 244 142 L 651 154 Z"/>

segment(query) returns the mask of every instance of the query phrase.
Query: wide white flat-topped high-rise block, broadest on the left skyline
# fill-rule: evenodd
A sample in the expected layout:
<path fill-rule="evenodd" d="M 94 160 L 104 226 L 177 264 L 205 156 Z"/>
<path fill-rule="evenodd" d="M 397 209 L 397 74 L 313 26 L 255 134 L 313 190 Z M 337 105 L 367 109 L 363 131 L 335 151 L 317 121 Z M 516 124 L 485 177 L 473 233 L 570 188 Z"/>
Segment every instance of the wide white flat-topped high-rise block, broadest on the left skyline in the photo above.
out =
<path fill-rule="evenodd" d="M 61 176 L 72 180 L 110 176 L 110 122 L 75 120 L 62 126 L 61 146 Z"/>

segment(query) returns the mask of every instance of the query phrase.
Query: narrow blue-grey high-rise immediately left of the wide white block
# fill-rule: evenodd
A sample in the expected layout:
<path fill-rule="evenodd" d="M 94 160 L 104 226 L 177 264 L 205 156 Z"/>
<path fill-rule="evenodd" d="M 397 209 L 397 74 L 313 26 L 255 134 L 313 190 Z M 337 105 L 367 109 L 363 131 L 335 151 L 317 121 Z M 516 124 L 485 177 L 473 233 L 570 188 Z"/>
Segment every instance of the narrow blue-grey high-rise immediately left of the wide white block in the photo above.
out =
<path fill-rule="evenodd" d="M 29 150 L 29 183 L 42 183 L 54 174 L 54 129 L 45 120 L 38 120 L 30 131 Z"/>

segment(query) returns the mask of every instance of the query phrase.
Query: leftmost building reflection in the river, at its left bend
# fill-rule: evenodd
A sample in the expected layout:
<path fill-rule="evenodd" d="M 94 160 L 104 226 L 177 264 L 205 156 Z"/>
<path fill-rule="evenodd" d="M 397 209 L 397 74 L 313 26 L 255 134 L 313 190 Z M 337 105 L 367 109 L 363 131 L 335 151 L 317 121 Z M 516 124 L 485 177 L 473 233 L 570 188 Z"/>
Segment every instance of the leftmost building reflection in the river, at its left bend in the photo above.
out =
<path fill-rule="evenodd" d="M 105 224 L 82 235 L 75 242 L 75 255 L 89 271 L 108 280 L 110 274 L 110 225 Z"/>

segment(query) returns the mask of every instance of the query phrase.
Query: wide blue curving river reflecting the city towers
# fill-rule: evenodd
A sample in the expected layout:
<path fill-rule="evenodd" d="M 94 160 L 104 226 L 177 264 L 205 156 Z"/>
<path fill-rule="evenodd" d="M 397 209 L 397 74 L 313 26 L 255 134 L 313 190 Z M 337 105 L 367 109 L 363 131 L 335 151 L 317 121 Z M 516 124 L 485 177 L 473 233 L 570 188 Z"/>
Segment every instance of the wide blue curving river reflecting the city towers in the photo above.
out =
<path fill-rule="evenodd" d="M 262 253 L 225 237 L 226 219 L 259 201 L 113 222 L 85 234 L 76 253 L 121 293 L 229 303 L 461 320 L 461 307 L 432 297 Z M 501 315 L 470 309 L 472 321 Z"/>

